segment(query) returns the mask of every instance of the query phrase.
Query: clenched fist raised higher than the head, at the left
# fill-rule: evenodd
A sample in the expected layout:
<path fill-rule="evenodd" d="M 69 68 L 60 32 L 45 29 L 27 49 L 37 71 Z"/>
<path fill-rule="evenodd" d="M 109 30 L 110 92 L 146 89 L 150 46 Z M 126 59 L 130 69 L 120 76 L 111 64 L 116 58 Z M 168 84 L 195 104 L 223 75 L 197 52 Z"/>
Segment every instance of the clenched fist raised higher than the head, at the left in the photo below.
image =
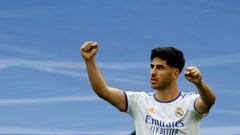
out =
<path fill-rule="evenodd" d="M 98 51 L 98 43 L 93 41 L 88 41 L 82 44 L 80 47 L 80 52 L 85 60 L 92 59 Z"/>

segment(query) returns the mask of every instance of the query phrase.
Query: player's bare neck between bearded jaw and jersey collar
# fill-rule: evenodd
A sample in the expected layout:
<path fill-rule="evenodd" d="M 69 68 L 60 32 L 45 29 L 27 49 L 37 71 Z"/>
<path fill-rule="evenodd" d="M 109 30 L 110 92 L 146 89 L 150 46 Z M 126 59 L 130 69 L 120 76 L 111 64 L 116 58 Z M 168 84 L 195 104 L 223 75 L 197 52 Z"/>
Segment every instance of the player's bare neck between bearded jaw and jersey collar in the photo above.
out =
<path fill-rule="evenodd" d="M 171 84 L 169 87 L 161 90 L 156 90 L 156 98 L 160 101 L 169 101 L 176 98 L 179 94 L 177 83 Z"/>

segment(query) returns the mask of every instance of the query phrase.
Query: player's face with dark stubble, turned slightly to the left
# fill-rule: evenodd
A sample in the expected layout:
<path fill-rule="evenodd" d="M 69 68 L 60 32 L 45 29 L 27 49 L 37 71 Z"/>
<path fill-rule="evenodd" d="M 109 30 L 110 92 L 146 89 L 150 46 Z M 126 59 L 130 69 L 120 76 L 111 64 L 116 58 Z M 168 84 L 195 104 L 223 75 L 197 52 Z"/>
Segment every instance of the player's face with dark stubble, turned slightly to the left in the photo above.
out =
<path fill-rule="evenodd" d="M 175 77 L 177 69 L 167 65 L 166 60 L 155 57 L 151 62 L 150 81 L 151 87 L 164 90 L 169 87 Z"/>

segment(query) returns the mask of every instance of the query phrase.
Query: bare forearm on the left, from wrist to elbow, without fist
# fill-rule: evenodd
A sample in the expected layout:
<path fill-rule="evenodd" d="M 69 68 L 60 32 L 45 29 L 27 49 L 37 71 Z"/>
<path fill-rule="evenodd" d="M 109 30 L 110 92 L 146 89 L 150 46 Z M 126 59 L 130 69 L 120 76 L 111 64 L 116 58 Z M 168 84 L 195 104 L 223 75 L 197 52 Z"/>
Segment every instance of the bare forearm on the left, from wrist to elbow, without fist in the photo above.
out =
<path fill-rule="evenodd" d="M 85 63 L 87 67 L 89 81 L 93 90 L 99 97 L 104 97 L 107 93 L 108 86 L 99 68 L 97 67 L 95 60 L 86 60 Z"/>

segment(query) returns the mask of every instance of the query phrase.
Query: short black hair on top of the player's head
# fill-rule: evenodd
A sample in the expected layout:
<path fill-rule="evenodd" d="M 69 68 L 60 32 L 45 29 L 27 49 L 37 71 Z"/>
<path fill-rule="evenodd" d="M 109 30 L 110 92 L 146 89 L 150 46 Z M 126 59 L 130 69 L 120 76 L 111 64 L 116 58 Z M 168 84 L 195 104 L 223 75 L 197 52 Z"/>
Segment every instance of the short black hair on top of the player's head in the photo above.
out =
<path fill-rule="evenodd" d="M 185 64 L 185 59 L 182 51 L 174 47 L 159 47 L 152 49 L 151 61 L 155 57 L 166 60 L 169 66 L 179 69 L 180 72 L 182 71 Z"/>

